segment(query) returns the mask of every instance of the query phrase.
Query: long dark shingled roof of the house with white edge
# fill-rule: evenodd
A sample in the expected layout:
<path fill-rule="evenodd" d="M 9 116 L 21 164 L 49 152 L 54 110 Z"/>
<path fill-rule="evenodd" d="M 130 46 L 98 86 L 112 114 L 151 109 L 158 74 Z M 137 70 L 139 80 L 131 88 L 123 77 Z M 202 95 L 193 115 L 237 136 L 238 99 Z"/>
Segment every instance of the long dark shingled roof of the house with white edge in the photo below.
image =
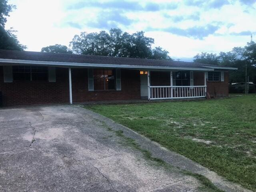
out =
<path fill-rule="evenodd" d="M 48 64 L 65 66 L 120 67 L 120 68 L 195 68 L 201 70 L 236 69 L 198 62 L 181 62 L 140 58 L 95 56 L 82 54 L 46 53 L 0 50 L 0 63 Z"/>

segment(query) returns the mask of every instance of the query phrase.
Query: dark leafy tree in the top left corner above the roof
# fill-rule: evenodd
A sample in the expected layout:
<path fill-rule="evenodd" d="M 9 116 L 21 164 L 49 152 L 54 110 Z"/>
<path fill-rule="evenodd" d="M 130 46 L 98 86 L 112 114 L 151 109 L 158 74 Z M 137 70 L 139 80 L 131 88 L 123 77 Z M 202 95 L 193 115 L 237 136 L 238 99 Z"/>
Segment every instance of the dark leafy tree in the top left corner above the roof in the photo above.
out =
<path fill-rule="evenodd" d="M 9 5 L 7 0 L 0 0 L 0 49 L 7 50 L 24 50 L 26 46 L 20 44 L 16 32 L 12 28 L 5 30 L 5 24 L 9 13 L 15 9 L 16 6 Z"/>

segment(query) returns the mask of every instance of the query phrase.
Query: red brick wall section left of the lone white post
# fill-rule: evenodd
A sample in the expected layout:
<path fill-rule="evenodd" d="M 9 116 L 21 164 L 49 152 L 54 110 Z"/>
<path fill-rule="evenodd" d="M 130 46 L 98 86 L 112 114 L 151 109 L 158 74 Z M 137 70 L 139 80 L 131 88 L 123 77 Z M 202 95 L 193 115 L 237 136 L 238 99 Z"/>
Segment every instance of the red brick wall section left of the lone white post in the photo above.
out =
<path fill-rule="evenodd" d="M 0 66 L 0 91 L 4 106 L 65 103 L 69 101 L 68 69 L 56 69 L 56 82 L 19 81 L 4 83 Z"/>

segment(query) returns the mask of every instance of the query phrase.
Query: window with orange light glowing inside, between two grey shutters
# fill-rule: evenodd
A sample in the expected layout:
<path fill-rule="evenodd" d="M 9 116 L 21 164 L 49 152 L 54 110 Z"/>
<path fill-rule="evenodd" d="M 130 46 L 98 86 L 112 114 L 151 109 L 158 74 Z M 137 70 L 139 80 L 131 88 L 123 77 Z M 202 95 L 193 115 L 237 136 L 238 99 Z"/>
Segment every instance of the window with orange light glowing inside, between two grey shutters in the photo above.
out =
<path fill-rule="evenodd" d="M 115 90 L 115 70 L 94 69 L 94 90 Z"/>

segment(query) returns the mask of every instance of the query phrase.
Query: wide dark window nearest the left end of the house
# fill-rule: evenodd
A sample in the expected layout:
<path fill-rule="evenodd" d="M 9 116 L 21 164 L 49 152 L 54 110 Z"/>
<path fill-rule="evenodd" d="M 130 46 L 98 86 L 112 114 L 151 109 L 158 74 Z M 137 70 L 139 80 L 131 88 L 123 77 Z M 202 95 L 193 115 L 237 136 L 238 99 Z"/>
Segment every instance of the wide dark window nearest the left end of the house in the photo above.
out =
<path fill-rule="evenodd" d="M 42 81 L 48 79 L 48 68 L 44 66 L 13 66 L 14 81 Z"/>

